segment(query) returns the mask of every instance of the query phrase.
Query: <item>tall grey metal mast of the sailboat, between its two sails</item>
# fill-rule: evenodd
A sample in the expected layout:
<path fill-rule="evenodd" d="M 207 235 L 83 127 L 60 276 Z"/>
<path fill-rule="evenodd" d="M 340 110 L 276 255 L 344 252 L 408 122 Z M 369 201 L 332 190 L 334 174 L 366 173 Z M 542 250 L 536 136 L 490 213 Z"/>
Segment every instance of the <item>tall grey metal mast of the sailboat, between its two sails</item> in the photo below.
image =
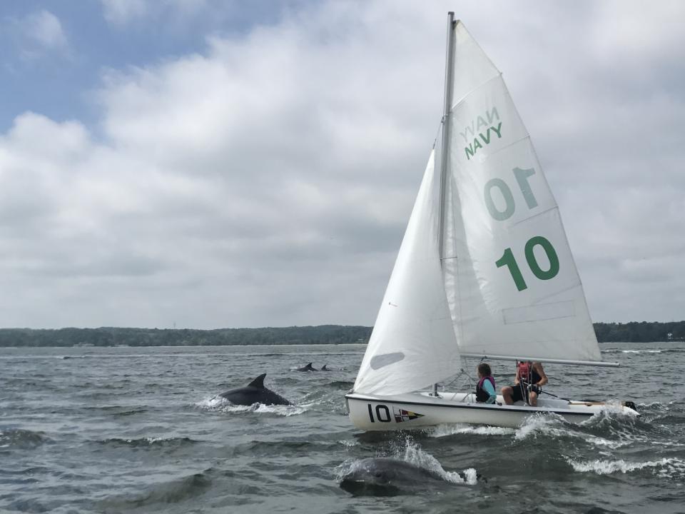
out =
<path fill-rule="evenodd" d="M 440 268 L 445 253 L 445 195 L 447 192 L 447 158 L 450 156 L 450 110 L 452 109 L 452 90 L 455 84 L 455 13 L 447 13 L 447 57 L 445 61 L 445 105 L 442 108 L 442 148 L 440 155 L 440 222 L 438 241 L 440 248 Z M 437 396 L 437 383 L 433 384 L 433 396 Z"/>

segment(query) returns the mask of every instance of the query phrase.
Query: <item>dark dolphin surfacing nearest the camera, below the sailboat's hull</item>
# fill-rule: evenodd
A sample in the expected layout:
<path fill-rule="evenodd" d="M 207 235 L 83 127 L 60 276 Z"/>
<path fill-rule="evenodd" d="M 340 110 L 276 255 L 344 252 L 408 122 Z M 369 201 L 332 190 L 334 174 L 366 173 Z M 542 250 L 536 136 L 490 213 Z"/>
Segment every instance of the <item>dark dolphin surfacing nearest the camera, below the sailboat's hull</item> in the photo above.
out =
<path fill-rule="evenodd" d="M 465 478 L 462 473 L 460 475 Z M 340 480 L 340 488 L 355 496 L 413 494 L 451 485 L 435 471 L 387 457 L 358 460 Z"/>

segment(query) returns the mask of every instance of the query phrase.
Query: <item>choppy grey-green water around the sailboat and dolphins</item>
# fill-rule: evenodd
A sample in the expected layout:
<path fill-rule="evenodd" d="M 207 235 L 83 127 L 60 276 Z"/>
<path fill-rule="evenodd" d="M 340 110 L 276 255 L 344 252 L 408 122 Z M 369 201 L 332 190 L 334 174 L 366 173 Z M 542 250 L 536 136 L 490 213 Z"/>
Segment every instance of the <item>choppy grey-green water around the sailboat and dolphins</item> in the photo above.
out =
<path fill-rule="evenodd" d="M 0 348 L 0 512 L 685 513 L 685 344 L 601 347 L 626 367 L 546 366 L 546 390 L 631 399 L 641 418 L 423 433 L 352 427 L 363 346 Z M 310 361 L 342 370 L 290 371 Z M 512 363 L 492 365 L 511 379 Z M 296 405 L 216 396 L 264 372 Z M 340 488 L 375 456 L 437 480 Z"/>

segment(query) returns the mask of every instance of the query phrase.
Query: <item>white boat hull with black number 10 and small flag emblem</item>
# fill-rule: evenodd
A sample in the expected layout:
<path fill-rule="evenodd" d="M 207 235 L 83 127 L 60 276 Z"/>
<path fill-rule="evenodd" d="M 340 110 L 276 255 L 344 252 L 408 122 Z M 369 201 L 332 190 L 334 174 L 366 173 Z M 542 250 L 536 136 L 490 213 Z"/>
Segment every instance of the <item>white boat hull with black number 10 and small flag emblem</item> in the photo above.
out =
<path fill-rule="evenodd" d="M 596 402 L 567 402 L 539 398 L 538 406 L 531 407 L 518 402 L 506 405 L 477 403 L 473 393 L 440 392 L 438 397 L 427 392 L 392 396 L 350 393 L 345 395 L 350 420 L 362 430 L 410 430 L 426 428 L 442 423 L 470 423 L 517 428 L 534 414 L 554 413 L 571 423 L 581 423 L 606 409 L 608 406 L 626 413 L 638 415 L 625 405 Z"/>

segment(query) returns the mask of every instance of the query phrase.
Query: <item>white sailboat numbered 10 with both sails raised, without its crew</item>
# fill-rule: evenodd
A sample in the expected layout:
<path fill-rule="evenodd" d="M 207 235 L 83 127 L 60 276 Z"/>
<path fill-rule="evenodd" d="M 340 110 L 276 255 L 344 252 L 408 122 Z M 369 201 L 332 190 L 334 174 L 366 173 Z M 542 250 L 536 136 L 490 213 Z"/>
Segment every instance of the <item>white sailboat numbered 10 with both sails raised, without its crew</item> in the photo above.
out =
<path fill-rule="evenodd" d="M 502 74 L 452 12 L 447 34 L 442 137 L 345 395 L 350 419 L 363 430 L 517 427 L 537 413 L 582 422 L 606 406 L 437 390 L 462 357 L 618 366 L 602 362 L 559 208 Z"/>

